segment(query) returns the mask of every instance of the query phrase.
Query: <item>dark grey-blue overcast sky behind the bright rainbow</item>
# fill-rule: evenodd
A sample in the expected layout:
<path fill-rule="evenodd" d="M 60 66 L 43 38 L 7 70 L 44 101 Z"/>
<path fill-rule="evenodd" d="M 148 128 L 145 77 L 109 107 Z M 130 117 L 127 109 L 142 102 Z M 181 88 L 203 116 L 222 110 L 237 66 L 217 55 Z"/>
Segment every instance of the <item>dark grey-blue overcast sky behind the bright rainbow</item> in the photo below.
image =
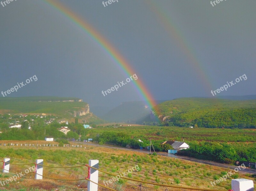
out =
<path fill-rule="evenodd" d="M 2 0 L 3 1 L 3 0 Z M 61 0 L 128 61 L 156 100 L 256 94 L 256 1 Z M 36 75 L 8 97 L 78 97 L 100 114 L 142 100 L 127 74 L 81 27 L 42 0 L 0 4 L 0 91 Z M 25 84 L 25 83 L 24 83 Z M 2 95 L 1 95 L 2 96 Z M 101 108 L 101 109 L 102 109 Z M 103 109 L 104 110 L 104 109 Z"/>

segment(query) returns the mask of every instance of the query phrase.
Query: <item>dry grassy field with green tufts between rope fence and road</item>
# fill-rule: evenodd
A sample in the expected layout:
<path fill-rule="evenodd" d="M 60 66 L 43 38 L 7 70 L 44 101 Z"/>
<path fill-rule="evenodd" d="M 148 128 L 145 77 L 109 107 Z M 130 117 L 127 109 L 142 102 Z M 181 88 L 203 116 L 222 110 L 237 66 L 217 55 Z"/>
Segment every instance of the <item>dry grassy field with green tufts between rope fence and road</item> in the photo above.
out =
<path fill-rule="evenodd" d="M 1 141 L 0 143 L 7 143 Z M 36 141 L 9 141 L 9 143 L 30 143 L 35 144 Z M 40 144 L 46 143 L 40 141 Z M 47 142 L 49 143 L 49 142 Z M 57 143 L 56 143 L 57 144 Z M 230 171 L 220 167 L 204 165 L 185 160 L 168 158 L 164 156 L 153 156 L 136 151 L 122 151 L 118 149 L 108 149 L 88 146 L 86 148 L 68 148 L 68 147 L 43 147 L 36 150 L 35 147 L 20 147 L 20 146 L 0 146 L 0 158 L 11 158 L 11 163 L 28 164 L 34 163 L 36 159 L 44 159 L 44 165 L 48 166 L 77 166 L 85 165 L 89 159 L 98 159 L 100 161 L 99 168 L 114 174 L 127 173 L 129 169 L 139 166 L 139 171 L 127 173 L 126 177 L 145 180 L 149 182 L 157 182 L 164 184 L 175 185 L 175 180 L 180 181 L 180 186 L 193 186 L 202 188 L 231 188 L 231 179 L 220 182 L 219 185 L 212 187 L 211 181 L 219 179 L 225 172 Z M 32 166 L 32 165 L 30 165 Z M 28 166 L 11 165 L 10 170 L 14 172 L 24 172 Z M 44 167 L 44 176 L 57 179 L 81 179 L 87 177 L 87 168 L 78 167 L 70 169 L 56 169 Z M 12 177 L 13 173 L 0 173 L 0 180 L 4 181 Z M 233 175 L 233 178 L 251 179 L 255 183 L 255 179 L 249 177 L 249 174 L 241 172 Z M 105 173 L 99 173 L 99 183 L 112 179 Z M 117 183 L 117 182 L 115 182 Z M 138 190 L 139 182 L 126 181 L 120 179 L 118 184 L 110 184 L 116 190 Z M 78 186 L 79 185 L 79 186 Z M 87 190 L 87 182 L 82 181 L 58 181 L 44 178 L 43 180 L 34 180 L 33 174 L 27 174 L 16 182 L 12 181 L 7 186 L 0 190 Z M 145 190 L 165 190 L 165 187 L 158 187 L 149 184 L 143 184 Z M 100 191 L 106 190 L 100 188 Z M 170 188 L 169 190 L 178 191 L 180 189 Z"/>

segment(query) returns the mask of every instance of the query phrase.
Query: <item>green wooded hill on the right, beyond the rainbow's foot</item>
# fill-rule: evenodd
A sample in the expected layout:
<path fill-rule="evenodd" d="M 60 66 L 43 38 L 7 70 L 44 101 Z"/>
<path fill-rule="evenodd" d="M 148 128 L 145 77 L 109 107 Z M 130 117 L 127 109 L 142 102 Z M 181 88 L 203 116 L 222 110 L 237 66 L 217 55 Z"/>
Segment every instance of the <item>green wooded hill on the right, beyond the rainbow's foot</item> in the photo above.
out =
<path fill-rule="evenodd" d="M 164 123 L 206 128 L 256 128 L 256 100 L 180 98 L 154 107 Z M 167 121 L 167 122 L 166 122 Z"/>

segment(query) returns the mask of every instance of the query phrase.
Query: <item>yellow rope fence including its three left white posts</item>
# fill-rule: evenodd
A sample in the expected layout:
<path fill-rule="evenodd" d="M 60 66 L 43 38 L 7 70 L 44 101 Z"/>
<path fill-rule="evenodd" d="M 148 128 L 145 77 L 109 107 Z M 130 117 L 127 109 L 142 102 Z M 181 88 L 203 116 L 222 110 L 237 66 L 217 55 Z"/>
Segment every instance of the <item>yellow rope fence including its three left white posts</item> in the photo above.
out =
<path fill-rule="evenodd" d="M 14 164 L 14 163 L 10 163 L 10 158 L 4 158 L 4 161 L 0 161 L 0 162 L 3 162 L 2 169 L 3 169 L 3 172 L 5 172 L 5 173 L 6 172 L 11 172 L 11 173 L 18 174 L 16 172 L 13 172 L 13 171 L 9 170 L 10 165 L 24 165 L 24 166 L 25 165 L 35 165 L 35 171 L 30 172 L 30 173 L 26 173 L 26 171 L 25 171 L 24 174 L 34 173 L 35 174 L 35 179 L 42 179 L 44 177 L 44 178 L 47 178 L 47 179 L 60 180 L 60 181 L 88 180 L 88 191 L 98 190 L 98 186 L 103 187 L 103 188 L 107 188 L 107 189 L 112 190 L 112 191 L 117 191 L 113 188 L 110 188 L 110 187 L 107 187 L 107 186 L 104 186 L 104 185 L 101 185 L 101 184 L 98 183 L 98 172 L 102 172 L 102 173 L 106 173 L 106 174 L 114 176 L 114 177 L 118 177 L 118 175 L 116 175 L 114 173 L 109 173 L 109 172 L 100 170 L 98 160 L 89 160 L 89 165 L 87 164 L 87 165 L 79 165 L 79 166 L 47 166 L 47 165 L 43 165 L 43 160 L 42 159 L 37 159 L 36 161 L 37 161 L 36 163 L 29 163 L 29 164 Z M 88 175 L 87 175 L 86 178 L 82 178 L 82 179 L 73 179 L 73 180 L 57 179 L 57 178 L 44 176 L 43 175 L 43 167 L 47 167 L 47 168 L 87 167 L 88 168 Z M 38 176 L 36 176 L 36 175 L 38 175 Z M 226 189 L 211 189 L 211 188 L 199 188 L 199 187 L 190 187 L 190 186 L 178 186 L 178 185 L 170 185 L 170 184 L 159 184 L 159 183 L 155 183 L 155 182 L 148 182 L 148 181 L 143 181 L 143 180 L 138 180 L 138 179 L 132 179 L 132 178 L 128 178 L 128 177 L 120 177 L 120 178 L 125 179 L 125 180 L 131 180 L 131 181 L 135 181 L 135 182 L 150 184 L 150 185 L 162 186 L 162 187 L 172 187 L 172 188 L 180 188 L 180 189 L 188 189 L 188 190 L 201 190 L 201 191 L 227 191 Z M 229 190 L 229 191 L 233 191 L 233 190 Z"/>

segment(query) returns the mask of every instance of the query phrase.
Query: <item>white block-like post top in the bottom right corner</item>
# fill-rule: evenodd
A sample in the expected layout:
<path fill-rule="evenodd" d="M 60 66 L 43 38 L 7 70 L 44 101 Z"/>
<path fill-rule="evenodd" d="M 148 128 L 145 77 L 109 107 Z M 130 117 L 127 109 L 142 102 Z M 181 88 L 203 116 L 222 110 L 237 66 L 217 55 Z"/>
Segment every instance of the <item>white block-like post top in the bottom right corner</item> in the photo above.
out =
<path fill-rule="evenodd" d="M 231 187 L 234 191 L 253 191 L 253 181 L 248 179 L 233 179 Z"/>

